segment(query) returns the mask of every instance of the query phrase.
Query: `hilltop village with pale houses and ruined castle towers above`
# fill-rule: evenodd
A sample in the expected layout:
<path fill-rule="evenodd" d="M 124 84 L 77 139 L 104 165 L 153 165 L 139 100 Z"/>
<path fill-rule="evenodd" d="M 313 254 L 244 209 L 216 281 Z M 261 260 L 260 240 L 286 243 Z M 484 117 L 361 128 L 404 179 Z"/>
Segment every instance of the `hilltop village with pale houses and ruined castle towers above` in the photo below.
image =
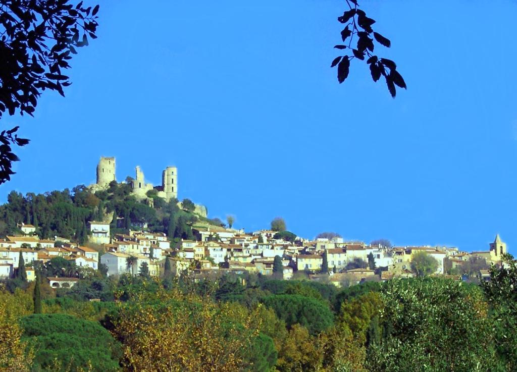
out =
<path fill-rule="evenodd" d="M 30 281 L 38 262 L 45 265 L 61 257 L 76 268 L 103 270 L 108 276 L 191 272 L 199 280 L 225 274 L 260 274 L 287 280 L 305 277 L 348 286 L 419 275 L 418 261 L 423 259 L 425 263 L 427 259 L 432 262 L 431 272 L 427 274 L 482 280 L 489 277 L 490 266 L 499 265 L 501 256 L 507 252 L 506 243 L 499 235 L 486 251 L 468 253 L 456 247 L 391 246 L 387 241 L 347 242 L 337 234 L 306 239 L 284 231 L 285 226 L 246 232 L 209 220 L 206 208 L 194 205 L 189 199 L 179 202 L 176 167 L 163 170 L 162 185 L 158 187 L 145 181 L 140 167 L 136 167 L 135 173 L 134 179 L 128 177 L 126 182 L 117 183 L 115 158 L 101 158 L 97 165 L 97 182 L 75 191 L 82 193 L 85 199 L 96 201 L 101 197 L 89 215 L 97 219 L 86 221 L 85 217 L 84 222 L 79 219 L 78 224 L 72 224 L 75 234 L 68 237 L 49 236 L 52 231 L 60 232 L 51 230 L 55 221 L 49 222 L 50 227 L 39 227 L 37 203 L 30 207 L 27 204 L 27 216 L 24 218 L 19 213 L 22 221 L 16 221 L 19 234 L 9 234 L 0 241 L 0 277 L 12 277 L 23 259 Z M 126 193 L 124 200 L 129 200 L 126 203 L 131 203 L 132 209 L 126 212 L 121 210 L 125 205 L 119 207 L 121 202 L 112 200 L 113 195 L 121 192 Z M 114 207 L 110 209 L 109 203 Z M 161 207 L 156 212 L 158 204 Z M 147 214 L 150 211 L 163 215 L 166 208 L 178 211 L 171 212 L 170 216 L 165 214 L 160 226 L 159 223 L 149 225 L 141 218 L 143 212 L 137 212 L 142 208 Z M 174 218 L 172 213 L 176 213 Z M 12 224 L 17 218 L 14 215 L 5 214 L 5 218 Z M 40 214 L 39 220 L 42 219 Z M 67 224 L 71 224 L 69 220 L 77 220 L 71 214 L 66 219 Z M 63 273 L 48 280 L 55 288 L 73 286 L 78 276 Z"/>

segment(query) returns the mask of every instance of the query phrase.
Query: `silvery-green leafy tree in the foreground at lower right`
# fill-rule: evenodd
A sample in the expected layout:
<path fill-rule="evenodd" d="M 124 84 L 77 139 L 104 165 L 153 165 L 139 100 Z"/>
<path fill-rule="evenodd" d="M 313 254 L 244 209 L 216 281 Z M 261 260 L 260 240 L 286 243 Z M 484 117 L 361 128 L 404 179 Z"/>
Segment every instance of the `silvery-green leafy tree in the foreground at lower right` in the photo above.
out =
<path fill-rule="evenodd" d="M 505 370 L 496 368 L 492 321 L 479 287 L 443 278 L 393 280 L 381 298 L 384 336 L 369 347 L 371 372 Z"/>

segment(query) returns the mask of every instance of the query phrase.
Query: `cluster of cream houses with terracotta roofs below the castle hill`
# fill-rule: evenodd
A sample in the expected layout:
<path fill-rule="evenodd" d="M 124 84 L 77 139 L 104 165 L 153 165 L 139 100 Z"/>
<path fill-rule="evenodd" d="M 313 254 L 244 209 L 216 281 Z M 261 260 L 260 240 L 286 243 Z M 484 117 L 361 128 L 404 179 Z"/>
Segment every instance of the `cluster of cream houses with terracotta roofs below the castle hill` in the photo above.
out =
<path fill-rule="evenodd" d="M 28 266 L 29 281 L 34 280 L 34 270 L 30 268 L 34 262 L 46 263 L 53 257 L 63 257 L 80 268 L 98 270 L 99 265 L 105 265 L 109 276 L 139 275 L 146 267 L 151 276 L 162 276 L 170 270 L 173 275 L 191 272 L 196 280 L 227 273 L 276 274 L 288 280 L 297 271 L 302 271 L 310 280 L 325 280 L 342 286 L 412 277 L 415 272 L 410 263 L 417 252 L 426 252 L 438 262 L 435 275 L 445 274 L 446 259 L 452 268 L 461 267 L 475 258 L 491 265 L 499 264 L 501 256 L 507 252 L 506 243 L 499 235 L 489 250 L 467 253 L 455 247 L 371 246 L 346 242 L 339 237 L 314 240 L 296 237 L 293 242 L 279 238 L 277 231 L 258 230 L 247 234 L 243 230 L 202 223 L 192 226 L 195 240 L 182 239 L 171 244 L 162 232 L 129 230 L 129 234 L 110 234 L 109 223 L 91 221 L 89 242 L 102 247 L 99 253 L 99 250 L 64 238 L 39 239 L 32 225 L 21 224 L 20 229 L 24 236 L 8 236 L 0 241 L 0 277 L 13 275 L 20 256 Z M 55 246 L 56 242 L 59 246 Z M 369 265 L 351 268 L 354 262 L 368 262 Z M 324 265 L 328 272 L 322 272 Z M 488 270 L 480 270 L 479 278 L 486 277 L 489 277 Z M 70 287 L 77 282 L 77 278 L 72 277 L 50 277 L 48 280 L 54 288 Z"/>

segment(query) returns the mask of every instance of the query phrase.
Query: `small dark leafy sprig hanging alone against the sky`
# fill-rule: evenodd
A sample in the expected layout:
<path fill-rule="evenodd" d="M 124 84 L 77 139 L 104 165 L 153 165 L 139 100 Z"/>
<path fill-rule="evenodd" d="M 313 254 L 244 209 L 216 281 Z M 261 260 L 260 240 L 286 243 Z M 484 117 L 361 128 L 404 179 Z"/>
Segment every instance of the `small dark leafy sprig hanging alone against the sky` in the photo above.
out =
<path fill-rule="evenodd" d="M 344 44 L 336 45 L 334 48 L 339 50 L 351 50 L 352 55 L 334 58 L 330 67 L 338 66 L 338 81 L 341 84 L 348 77 L 351 61 L 353 59 L 366 59 L 366 63 L 370 65 L 373 81 L 376 82 L 381 78 L 381 75 L 384 76 L 391 97 L 394 98 L 397 95 L 395 85 L 405 89 L 406 83 L 402 75 L 397 71 L 397 65 L 392 60 L 379 58 L 372 54 L 375 46 L 373 42 L 374 39 L 377 43 L 386 46 L 386 48 L 391 46 L 391 41 L 373 31 L 372 25 L 375 21 L 368 18 L 363 10 L 358 9 L 356 0 L 346 0 L 346 3 L 348 4 L 349 10 L 346 10 L 341 17 L 338 17 L 338 22 L 346 24 L 345 28 L 341 31 L 341 39 Z M 359 28 L 361 28 L 361 30 Z M 354 37 L 357 38 L 357 46 L 352 45 Z M 389 72 L 387 70 L 389 70 Z"/>

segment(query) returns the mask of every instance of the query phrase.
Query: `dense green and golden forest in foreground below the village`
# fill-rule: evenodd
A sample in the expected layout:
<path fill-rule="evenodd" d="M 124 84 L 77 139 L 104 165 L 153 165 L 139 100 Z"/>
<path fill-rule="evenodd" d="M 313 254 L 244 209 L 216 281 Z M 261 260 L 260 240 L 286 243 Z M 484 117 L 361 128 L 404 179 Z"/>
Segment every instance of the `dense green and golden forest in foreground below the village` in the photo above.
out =
<path fill-rule="evenodd" d="M 97 272 L 54 291 L 37 281 L 0 292 L 0 370 L 510 372 L 516 284 L 510 256 L 481 285 Z"/>

